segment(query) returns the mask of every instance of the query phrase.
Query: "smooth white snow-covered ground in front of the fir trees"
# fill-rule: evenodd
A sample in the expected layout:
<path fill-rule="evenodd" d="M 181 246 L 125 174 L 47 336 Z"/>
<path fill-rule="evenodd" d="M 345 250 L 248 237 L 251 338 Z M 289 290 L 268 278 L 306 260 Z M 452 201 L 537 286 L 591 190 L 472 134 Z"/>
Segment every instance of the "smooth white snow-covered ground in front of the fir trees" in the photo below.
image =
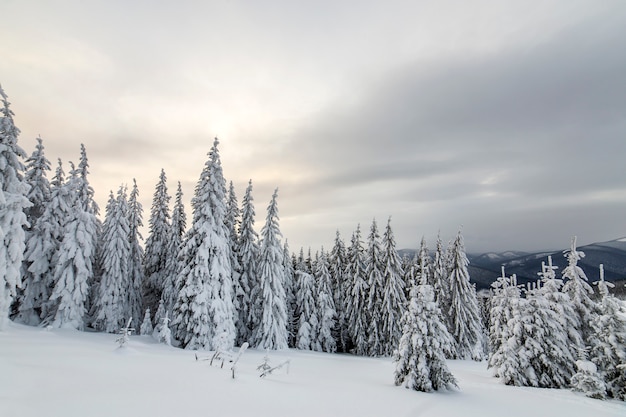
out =
<path fill-rule="evenodd" d="M 626 403 L 569 390 L 508 387 L 486 364 L 450 361 L 460 390 L 420 393 L 393 385 L 389 359 L 287 350 L 265 378 L 264 352 L 248 350 L 236 379 L 194 352 L 131 336 L 10 324 L 0 332 L 0 416 L 626 416 Z M 199 352 L 209 355 L 210 352 Z"/>

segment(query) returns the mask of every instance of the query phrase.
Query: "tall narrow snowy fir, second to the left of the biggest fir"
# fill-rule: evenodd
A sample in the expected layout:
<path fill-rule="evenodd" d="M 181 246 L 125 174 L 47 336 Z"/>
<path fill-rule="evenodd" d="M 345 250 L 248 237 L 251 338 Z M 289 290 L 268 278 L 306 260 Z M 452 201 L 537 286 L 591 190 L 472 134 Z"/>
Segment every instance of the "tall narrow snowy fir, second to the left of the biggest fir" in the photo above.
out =
<path fill-rule="evenodd" d="M 165 287 L 170 232 L 170 196 L 167 193 L 167 176 L 161 169 L 159 182 L 152 197 L 148 238 L 143 254 L 145 283 L 143 286 L 144 307 L 156 311 Z"/>

